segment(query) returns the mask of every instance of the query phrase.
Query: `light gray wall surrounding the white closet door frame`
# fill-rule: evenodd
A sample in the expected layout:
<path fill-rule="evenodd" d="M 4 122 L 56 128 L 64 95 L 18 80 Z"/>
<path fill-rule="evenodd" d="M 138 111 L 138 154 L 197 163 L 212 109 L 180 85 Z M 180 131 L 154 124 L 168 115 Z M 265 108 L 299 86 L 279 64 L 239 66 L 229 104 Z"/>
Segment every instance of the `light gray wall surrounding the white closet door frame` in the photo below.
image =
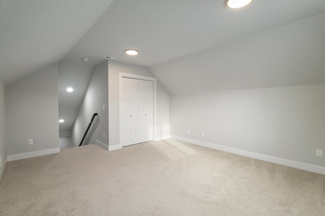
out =
<path fill-rule="evenodd" d="M 108 81 L 109 81 L 109 145 L 119 144 L 119 95 L 118 76 L 119 72 L 131 73 L 142 76 L 153 75 L 145 68 L 133 64 L 109 61 Z M 157 81 L 157 136 L 169 136 L 169 94 Z M 164 128 L 164 129 L 161 129 Z"/>

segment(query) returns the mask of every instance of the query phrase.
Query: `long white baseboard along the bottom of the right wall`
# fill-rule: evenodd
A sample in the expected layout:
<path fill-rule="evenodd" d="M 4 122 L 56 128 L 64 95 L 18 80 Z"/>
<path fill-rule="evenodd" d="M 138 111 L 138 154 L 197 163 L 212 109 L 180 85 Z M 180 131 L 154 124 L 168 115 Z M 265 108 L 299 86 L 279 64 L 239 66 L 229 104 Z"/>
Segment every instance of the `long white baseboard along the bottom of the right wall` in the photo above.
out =
<path fill-rule="evenodd" d="M 287 159 L 273 157 L 273 156 L 269 156 L 269 155 L 265 155 L 265 154 L 249 152 L 249 151 L 235 149 L 235 148 L 226 147 L 226 146 L 220 146 L 220 145 L 206 143 L 206 142 L 202 142 L 202 141 L 198 141 L 198 140 L 191 140 L 191 139 L 187 139 L 187 138 L 183 138 L 183 137 L 177 137 L 177 136 L 171 135 L 170 138 L 174 139 L 174 140 L 180 140 L 183 142 L 187 142 L 187 143 L 192 143 L 192 144 L 199 145 L 199 146 L 204 146 L 204 147 L 217 149 L 217 150 L 221 150 L 221 151 L 225 151 L 225 152 L 239 154 L 239 155 L 243 155 L 246 157 L 256 158 L 259 160 L 264 160 L 264 161 L 268 161 L 268 162 L 272 162 L 272 163 L 277 163 L 277 164 L 290 166 L 290 167 L 303 169 L 303 170 L 316 172 L 318 174 L 325 175 L 325 167 L 322 167 L 322 166 L 316 166 L 316 165 L 302 163 L 302 162 L 298 162 L 298 161 L 294 161 L 294 160 L 287 160 Z"/>

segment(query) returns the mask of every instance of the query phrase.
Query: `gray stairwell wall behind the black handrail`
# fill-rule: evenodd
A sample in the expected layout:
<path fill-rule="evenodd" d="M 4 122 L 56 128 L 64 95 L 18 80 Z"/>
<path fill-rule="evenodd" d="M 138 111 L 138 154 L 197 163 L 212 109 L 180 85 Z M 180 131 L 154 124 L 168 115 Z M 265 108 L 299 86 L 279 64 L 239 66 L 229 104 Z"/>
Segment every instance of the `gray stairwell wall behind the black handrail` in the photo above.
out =
<path fill-rule="evenodd" d="M 105 105 L 105 110 L 103 110 Z M 79 146 L 89 121 L 94 113 L 98 113 L 87 144 L 94 144 L 95 140 L 108 145 L 108 62 L 95 67 L 86 94 L 80 106 L 77 118 L 72 128 L 72 147 Z M 105 133 L 105 138 L 103 137 Z"/>

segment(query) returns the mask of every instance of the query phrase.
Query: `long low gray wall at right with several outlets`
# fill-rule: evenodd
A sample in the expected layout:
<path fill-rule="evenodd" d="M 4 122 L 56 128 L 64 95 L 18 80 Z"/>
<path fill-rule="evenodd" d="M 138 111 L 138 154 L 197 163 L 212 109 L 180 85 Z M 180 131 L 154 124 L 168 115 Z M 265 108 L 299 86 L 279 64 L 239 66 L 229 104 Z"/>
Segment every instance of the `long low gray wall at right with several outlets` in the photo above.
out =
<path fill-rule="evenodd" d="M 325 85 L 171 95 L 170 134 L 324 167 L 324 95 Z"/>

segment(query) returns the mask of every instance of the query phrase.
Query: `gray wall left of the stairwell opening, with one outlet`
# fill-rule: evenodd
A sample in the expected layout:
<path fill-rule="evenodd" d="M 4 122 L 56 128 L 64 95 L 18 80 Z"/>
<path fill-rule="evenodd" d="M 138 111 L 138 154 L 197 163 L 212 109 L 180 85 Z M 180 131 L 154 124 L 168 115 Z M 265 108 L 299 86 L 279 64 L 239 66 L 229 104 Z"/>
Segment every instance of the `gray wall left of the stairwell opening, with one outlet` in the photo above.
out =
<path fill-rule="evenodd" d="M 59 147 L 57 81 L 54 63 L 6 85 L 8 155 Z"/>

